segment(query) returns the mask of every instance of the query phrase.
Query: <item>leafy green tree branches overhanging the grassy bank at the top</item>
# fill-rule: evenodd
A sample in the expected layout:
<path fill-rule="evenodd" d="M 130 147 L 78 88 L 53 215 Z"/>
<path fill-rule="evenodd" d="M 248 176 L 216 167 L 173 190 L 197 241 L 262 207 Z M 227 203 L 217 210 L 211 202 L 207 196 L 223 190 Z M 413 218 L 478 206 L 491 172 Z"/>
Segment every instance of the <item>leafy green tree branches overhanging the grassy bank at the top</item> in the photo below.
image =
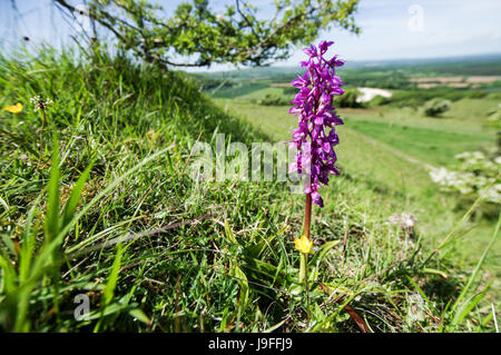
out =
<path fill-rule="evenodd" d="M 167 66 L 261 66 L 287 58 L 294 45 L 313 41 L 332 26 L 360 32 L 354 23 L 358 0 L 275 0 L 274 14 L 265 19 L 245 0 L 226 1 L 219 12 L 208 0 L 186 1 L 171 17 L 145 0 L 88 0 L 86 11 L 79 10 L 76 1 L 53 1 L 110 31 L 120 48 Z"/>

